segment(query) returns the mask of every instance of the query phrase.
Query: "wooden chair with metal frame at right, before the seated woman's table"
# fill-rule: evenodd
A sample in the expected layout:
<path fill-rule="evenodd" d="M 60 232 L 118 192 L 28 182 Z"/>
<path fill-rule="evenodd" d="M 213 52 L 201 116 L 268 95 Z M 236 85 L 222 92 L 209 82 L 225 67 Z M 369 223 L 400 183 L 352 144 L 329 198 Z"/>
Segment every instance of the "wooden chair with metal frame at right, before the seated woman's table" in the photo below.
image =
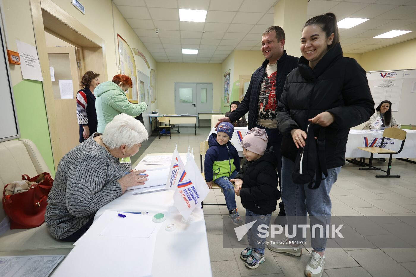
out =
<path fill-rule="evenodd" d="M 379 147 L 357 147 L 358 149 L 367 151 L 371 153 L 370 156 L 370 161 L 369 161 L 369 167 L 368 168 L 359 168 L 359 170 L 381 170 L 386 172 L 386 175 L 376 175 L 376 178 L 400 178 L 400 175 L 390 175 L 390 170 L 391 170 L 391 158 L 393 157 L 394 154 L 398 154 L 401 152 L 401 150 L 403 149 L 404 146 L 404 141 L 406 141 L 406 131 L 401 130 L 401 129 L 396 129 L 396 128 L 387 128 L 384 129 L 383 132 L 383 138 L 381 139 L 381 143 Z M 383 143 L 384 143 L 384 138 L 394 138 L 394 139 L 398 139 L 401 140 L 401 146 L 399 151 L 392 151 L 390 149 L 386 149 L 386 148 L 382 148 L 383 147 Z M 377 168 L 375 166 L 373 166 L 373 154 L 382 154 L 382 155 L 390 155 L 389 157 L 389 165 L 387 166 L 387 171 L 381 169 L 381 168 Z"/>

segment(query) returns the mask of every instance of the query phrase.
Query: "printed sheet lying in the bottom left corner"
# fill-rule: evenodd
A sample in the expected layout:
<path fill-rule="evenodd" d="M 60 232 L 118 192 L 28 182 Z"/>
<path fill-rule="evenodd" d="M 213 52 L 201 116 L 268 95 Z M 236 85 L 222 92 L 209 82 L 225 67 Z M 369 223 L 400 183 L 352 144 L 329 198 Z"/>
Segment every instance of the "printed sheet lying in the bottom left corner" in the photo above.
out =
<path fill-rule="evenodd" d="M 0 257 L 0 276 L 47 277 L 65 255 L 34 255 Z"/>

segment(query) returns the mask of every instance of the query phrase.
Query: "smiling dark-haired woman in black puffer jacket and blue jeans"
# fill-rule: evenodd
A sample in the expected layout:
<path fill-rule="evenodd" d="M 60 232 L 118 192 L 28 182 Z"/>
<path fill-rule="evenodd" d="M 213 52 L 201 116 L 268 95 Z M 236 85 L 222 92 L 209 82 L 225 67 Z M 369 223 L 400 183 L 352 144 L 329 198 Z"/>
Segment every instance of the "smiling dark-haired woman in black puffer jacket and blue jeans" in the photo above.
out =
<path fill-rule="evenodd" d="M 364 69 L 355 59 L 342 55 L 334 14 L 319 15 L 305 23 L 300 50 L 302 57 L 298 68 L 287 75 L 283 94 L 277 104 L 277 127 L 283 134 L 282 182 L 285 186 L 282 201 L 289 216 L 289 225 L 291 215 L 300 216 L 294 224 L 306 224 L 307 213 L 320 217 L 325 225 L 329 224 L 331 216 L 329 192 L 344 165 L 349 129 L 367 121 L 374 114 L 374 101 Z M 295 157 L 298 148 L 305 146 L 308 124 L 316 124 L 314 129 L 326 127 L 324 140 L 328 177 L 319 188 L 313 190 L 308 189 L 307 184 L 298 185 L 292 181 Z M 304 239 L 300 236 L 290 240 Z M 311 244 L 314 251 L 305 275 L 321 276 L 326 239 L 320 243 L 312 239 Z M 273 248 L 269 247 L 275 251 L 282 250 Z M 302 247 L 286 250 L 279 252 L 296 255 Z"/>

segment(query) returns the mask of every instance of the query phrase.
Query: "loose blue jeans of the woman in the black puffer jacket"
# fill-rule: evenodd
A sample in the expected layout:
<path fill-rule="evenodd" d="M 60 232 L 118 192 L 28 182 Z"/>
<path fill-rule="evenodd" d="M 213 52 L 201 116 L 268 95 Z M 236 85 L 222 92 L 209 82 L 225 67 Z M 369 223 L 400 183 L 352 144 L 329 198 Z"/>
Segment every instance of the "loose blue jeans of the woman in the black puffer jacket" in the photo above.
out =
<path fill-rule="evenodd" d="M 329 192 L 332 185 L 337 181 L 341 166 L 328 168 L 328 177 L 322 180 L 317 189 L 309 189 L 308 185 L 295 184 L 292 181 L 292 173 L 295 163 L 290 159 L 282 157 L 282 179 L 285 187 L 281 191 L 282 200 L 285 203 L 285 212 L 289 235 L 293 234 L 293 225 L 307 224 L 307 213 L 310 215 L 310 225 L 323 225 L 323 238 L 320 238 L 319 228 L 315 229 L 315 234 L 311 230 L 311 245 L 316 251 L 324 251 L 327 244 L 325 225 L 331 222 L 331 198 Z M 322 176 L 323 178 L 323 176 Z M 315 238 L 312 237 L 315 235 Z M 305 240 L 302 237 L 302 228 L 297 228 L 296 236 L 290 238 L 292 241 Z"/>

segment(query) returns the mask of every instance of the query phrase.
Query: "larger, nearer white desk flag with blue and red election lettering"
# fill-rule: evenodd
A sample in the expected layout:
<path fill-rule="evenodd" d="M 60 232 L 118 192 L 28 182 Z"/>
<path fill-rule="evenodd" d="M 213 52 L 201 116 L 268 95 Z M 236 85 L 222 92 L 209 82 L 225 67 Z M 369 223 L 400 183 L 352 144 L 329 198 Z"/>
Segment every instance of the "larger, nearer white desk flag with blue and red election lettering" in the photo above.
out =
<path fill-rule="evenodd" d="M 206 185 L 192 155 L 186 154 L 186 165 L 179 177 L 177 189 L 173 193 L 173 202 L 179 213 L 188 220 L 193 209 L 200 206 L 206 198 L 209 188 Z"/>

